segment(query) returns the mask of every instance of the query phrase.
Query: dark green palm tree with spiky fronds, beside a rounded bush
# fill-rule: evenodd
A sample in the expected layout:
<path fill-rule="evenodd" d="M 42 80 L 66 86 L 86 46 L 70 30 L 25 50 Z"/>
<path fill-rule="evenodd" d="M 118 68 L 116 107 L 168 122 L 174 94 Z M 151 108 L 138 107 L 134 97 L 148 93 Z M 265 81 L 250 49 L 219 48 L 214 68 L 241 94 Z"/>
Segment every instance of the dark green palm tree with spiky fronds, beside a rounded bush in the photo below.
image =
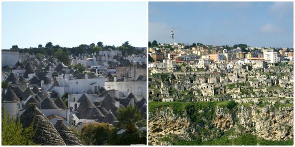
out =
<path fill-rule="evenodd" d="M 131 145 L 146 144 L 147 134 L 139 127 L 142 126 L 143 115 L 136 106 L 128 105 L 118 109 L 117 130 L 113 131 L 110 136 L 108 145 Z M 123 133 L 118 134 L 118 130 L 124 129 Z"/>

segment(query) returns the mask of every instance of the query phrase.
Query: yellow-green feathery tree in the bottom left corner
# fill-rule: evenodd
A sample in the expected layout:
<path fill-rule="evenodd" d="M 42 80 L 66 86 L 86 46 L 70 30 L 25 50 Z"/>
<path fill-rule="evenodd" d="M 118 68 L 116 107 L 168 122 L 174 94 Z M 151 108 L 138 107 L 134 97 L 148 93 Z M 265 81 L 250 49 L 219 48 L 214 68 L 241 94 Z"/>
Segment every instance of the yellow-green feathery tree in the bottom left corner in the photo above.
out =
<path fill-rule="evenodd" d="M 33 121 L 34 122 L 34 121 Z M 33 128 L 33 122 L 29 127 L 23 129 L 20 119 L 9 118 L 6 115 L 5 110 L 2 107 L 2 132 L 1 139 L 3 146 L 32 146 L 36 145 L 33 143 L 33 136 L 37 130 L 37 127 Z"/>

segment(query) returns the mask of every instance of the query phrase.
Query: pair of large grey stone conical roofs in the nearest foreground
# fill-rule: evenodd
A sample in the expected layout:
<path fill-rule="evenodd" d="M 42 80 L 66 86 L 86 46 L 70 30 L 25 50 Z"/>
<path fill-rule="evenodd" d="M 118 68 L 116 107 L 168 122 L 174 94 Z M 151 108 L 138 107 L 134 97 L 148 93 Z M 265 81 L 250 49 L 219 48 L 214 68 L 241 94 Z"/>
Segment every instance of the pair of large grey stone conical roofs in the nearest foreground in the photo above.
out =
<path fill-rule="evenodd" d="M 36 103 L 29 103 L 29 108 L 21 115 L 20 122 L 23 127 L 29 127 L 33 123 L 36 133 L 33 142 L 42 146 L 79 146 L 81 141 L 69 130 L 62 120 L 53 125 L 46 116 L 37 108 Z"/>

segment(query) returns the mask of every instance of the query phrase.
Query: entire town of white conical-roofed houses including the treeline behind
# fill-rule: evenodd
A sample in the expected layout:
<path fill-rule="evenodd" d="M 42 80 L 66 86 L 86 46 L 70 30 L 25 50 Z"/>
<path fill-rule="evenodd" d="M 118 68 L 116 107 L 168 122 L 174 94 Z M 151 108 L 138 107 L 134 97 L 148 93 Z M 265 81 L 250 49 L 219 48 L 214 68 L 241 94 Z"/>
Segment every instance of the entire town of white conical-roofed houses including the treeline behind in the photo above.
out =
<path fill-rule="evenodd" d="M 49 42 L 45 48 L 2 49 L 2 111 L 10 118 L 20 118 L 24 128 L 35 118 L 38 127 L 33 143 L 37 145 L 146 144 L 144 136 L 120 140 L 129 131 L 123 120 L 131 119 L 128 123 L 134 123 L 135 132 L 145 134 L 147 130 L 145 50 L 128 42 L 117 48 L 102 42 L 62 48 Z M 120 116 L 130 111 L 137 122 Z M 92 144 L 95 140 L 82 141 L 82 135 L 77 138 L 71 131 L 81 132 L 87 124 L 96 123 L 117 130 L 115 139 L 108 140 L 107 134 L 106 140 Z M 85 135 L 84 139 L 91 137 Z"/>

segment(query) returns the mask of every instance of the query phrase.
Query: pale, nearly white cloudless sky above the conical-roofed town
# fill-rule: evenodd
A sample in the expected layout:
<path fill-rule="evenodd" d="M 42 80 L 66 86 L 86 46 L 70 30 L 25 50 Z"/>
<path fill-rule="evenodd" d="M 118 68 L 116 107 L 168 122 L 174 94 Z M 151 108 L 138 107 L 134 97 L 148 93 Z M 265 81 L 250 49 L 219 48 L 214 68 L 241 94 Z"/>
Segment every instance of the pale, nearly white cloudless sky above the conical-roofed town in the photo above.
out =
<path fill-rule="evenodd" d="M 2 47 L 129 41 L 147 47 L 146 2 L 2 2 Z"/>

